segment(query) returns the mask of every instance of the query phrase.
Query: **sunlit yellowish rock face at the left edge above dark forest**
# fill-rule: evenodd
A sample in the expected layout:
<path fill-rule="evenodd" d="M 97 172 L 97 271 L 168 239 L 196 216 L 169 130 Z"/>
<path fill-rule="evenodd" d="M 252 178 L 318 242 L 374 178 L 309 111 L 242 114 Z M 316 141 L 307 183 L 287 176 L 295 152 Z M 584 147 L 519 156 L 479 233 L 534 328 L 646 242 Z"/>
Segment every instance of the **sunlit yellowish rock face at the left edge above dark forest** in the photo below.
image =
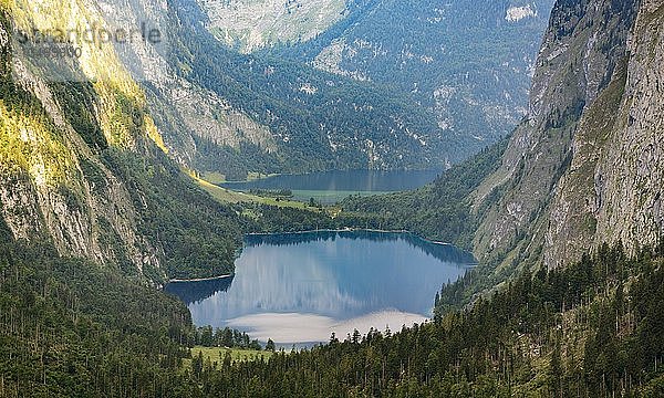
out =
<path fill-rule="evenodd" d="M 159 270 L 157 250 L 136 232 L 127 188 L 74 132 L 45 84 L 35 75 L 20 77 L 15 83 L 34 100 L 1 108 L 0 203 L 14 238 L 45 237 L 61 255 Z M 122 247 L 103 244 L 110 237 L 122 237 Z"/>

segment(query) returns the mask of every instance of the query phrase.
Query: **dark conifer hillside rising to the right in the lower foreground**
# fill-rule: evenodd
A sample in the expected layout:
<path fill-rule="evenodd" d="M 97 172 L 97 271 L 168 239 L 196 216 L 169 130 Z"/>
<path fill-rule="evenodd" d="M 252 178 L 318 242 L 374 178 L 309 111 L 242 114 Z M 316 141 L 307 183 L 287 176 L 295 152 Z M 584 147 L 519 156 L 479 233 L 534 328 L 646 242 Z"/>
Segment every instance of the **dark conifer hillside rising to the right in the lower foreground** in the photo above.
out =
<path fill-rule="evenodd" d="M 228 397 L 660 397 L 663 254 L 603 245 L 430 323 L 268 362 L 219 358 L 196 376 L 206 395 Z"/>

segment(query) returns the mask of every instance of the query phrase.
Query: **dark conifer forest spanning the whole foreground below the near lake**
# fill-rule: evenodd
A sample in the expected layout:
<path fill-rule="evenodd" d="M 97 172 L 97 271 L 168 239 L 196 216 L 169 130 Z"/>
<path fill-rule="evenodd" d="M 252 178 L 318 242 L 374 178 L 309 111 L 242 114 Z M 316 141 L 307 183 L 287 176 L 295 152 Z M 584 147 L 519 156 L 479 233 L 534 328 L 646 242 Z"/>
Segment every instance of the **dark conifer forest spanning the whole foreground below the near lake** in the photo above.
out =
<path fill-rule="evenodd" d="M 602 245 L 566 269 L 523 273 L 463 311 L 439 311 L 411 328 L 194 367 L 183 363 L 194 344 L 256 342 L 196 329 L 184 304 L 118 271 L 58 259 L 48 245 L 1 249 L 6 397 L 664 394 L 664 245 L 634 258 L 622 245 Z M 444 289 L 437 300 L 445 295 Z"/>

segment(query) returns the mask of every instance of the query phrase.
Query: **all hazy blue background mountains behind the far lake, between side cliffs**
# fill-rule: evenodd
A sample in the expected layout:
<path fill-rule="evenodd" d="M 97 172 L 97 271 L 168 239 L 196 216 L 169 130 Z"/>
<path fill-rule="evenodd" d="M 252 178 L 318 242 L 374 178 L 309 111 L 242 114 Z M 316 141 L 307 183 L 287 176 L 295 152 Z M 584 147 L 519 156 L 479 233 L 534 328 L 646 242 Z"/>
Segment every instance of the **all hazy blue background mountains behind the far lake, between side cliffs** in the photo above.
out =
<path fill-rule="evenodd" d="M 199 171 L 447 168 L 526 114 L 551 2 L 174 0 L 165 60 L 191 86 L 146 88 L 188 93 L 175 101 L 184 117 L 156 119 L 172 156 Z M 173 114 L 165 98 L 157 115 Z M 230 116 L 209 117 L 219 109 Z"/>

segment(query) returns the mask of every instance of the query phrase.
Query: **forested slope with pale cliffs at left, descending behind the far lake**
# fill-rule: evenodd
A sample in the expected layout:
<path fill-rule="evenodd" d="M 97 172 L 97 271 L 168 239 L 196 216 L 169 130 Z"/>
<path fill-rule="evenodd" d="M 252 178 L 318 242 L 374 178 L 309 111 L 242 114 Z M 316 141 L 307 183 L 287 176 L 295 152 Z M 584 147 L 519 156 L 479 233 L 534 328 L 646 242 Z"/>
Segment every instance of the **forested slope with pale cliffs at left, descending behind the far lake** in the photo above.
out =
<path fill-rule="evenodd" d="M 141 83 L 169 156 L 201 174 L 349 168 L 444 168 L 430 112 L 404 93 L 299 62 L 243 55 L 201 28 L 214 15 L 195 0 L 101 1 L 112 27 L 158 27 L 164 43 L 116 45 Z M 208 4 L 209 6 L 209 4 Z M 234 6 L 235 7 L 235 6 Z"/>

